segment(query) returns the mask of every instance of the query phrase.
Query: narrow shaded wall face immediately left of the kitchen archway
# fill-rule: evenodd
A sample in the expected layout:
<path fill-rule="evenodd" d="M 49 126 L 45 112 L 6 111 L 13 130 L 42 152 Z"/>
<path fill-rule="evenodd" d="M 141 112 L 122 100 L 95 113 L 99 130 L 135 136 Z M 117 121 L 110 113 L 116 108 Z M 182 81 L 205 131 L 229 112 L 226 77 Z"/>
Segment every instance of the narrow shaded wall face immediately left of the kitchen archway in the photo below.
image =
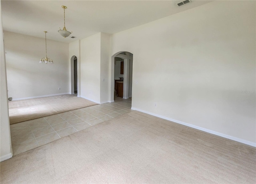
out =
<path fill-rule="evenodd" d="M 100 103 L 109 102 L 109 62 L 110 62 L 110 35 L 100 33 Z"/>

